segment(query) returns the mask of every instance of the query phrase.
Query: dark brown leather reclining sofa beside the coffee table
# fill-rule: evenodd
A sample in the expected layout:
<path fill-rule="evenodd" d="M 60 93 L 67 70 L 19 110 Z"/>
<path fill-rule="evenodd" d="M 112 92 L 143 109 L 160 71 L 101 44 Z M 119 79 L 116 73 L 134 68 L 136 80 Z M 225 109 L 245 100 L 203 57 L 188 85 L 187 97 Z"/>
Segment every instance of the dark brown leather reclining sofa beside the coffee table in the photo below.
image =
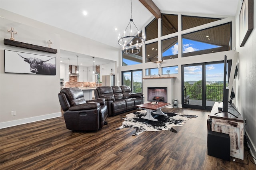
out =
<path fill-rule="evenodd" d="M 94 90 L 95 98 L 105 99 L 108 116 L 136 109 L 143 103 L 143 93 L 132 93 L 129 86 L 101 86 Z"/>

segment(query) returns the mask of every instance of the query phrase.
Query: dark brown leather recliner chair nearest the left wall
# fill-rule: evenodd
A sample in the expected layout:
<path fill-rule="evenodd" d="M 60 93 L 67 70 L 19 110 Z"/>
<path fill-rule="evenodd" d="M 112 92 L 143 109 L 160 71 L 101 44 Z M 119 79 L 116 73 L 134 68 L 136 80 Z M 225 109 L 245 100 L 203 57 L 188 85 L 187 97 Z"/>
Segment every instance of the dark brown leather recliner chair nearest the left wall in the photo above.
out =
<path fill-rule="evenodd" d="M 83 91 L 78 87 L 64 88 L 58 97 L 67 129 L 98 130 L 107 124 L 105 99 L 86 101 Z"/>

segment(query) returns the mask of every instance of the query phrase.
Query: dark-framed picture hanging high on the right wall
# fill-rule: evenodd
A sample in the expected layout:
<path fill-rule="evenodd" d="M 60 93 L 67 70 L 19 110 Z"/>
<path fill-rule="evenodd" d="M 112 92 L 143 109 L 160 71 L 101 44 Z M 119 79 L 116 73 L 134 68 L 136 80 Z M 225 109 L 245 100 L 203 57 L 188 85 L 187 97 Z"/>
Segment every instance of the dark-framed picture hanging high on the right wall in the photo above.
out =
<path fill-rule="evenodd" d="M 253 30 L 253 0 L 243 0 L 240 11 L 240 47 L 243 47 Z"/>

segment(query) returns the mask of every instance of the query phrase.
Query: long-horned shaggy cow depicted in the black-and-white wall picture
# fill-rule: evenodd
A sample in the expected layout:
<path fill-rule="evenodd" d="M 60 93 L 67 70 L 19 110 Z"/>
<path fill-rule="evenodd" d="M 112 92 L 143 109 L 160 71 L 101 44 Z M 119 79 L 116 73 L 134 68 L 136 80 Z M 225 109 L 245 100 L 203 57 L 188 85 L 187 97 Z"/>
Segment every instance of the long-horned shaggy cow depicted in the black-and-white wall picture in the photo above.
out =
<path fill-rule="evenodd" d="M 18 55 L 20 54 L 18 53 Z M 20 57 L 22 56 L 20 55 Z M 36 57 L 30 57 L 30 58 L 22 57 L 22 58 L 24 58 L 24 61 L 30 64 L 30 72 L 36 73 L 36 74 L 56 75 L 55 64 L 47 63 L 47 61 L 53 58 L 50 58 L 45 61 Z"/>

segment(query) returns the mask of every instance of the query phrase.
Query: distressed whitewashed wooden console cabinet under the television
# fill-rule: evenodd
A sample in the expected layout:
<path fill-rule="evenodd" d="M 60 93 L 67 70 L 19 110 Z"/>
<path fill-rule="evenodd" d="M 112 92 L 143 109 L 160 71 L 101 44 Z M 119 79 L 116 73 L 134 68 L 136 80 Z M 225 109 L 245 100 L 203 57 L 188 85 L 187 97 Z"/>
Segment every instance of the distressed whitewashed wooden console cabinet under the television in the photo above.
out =
<path fill-rule="evenodd" d="M 212 131 L 229 134 L 230 156 L 244 160 L 244 120 L 234 105 L 228 104 L 228 111 L 238 118 L 229 113 L 218 113 L 218 106 L 216 102 L 209 116 L 212 119 Z"/>

